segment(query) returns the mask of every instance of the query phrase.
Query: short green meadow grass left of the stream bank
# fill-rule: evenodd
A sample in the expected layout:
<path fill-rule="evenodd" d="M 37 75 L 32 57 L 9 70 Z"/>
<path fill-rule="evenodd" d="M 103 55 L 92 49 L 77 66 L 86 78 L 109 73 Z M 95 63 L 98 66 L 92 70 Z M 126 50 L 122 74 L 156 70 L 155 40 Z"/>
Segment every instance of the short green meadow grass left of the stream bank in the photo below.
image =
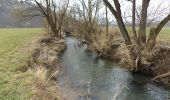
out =
<path fill-rule="evenodd" d="M 21 71 L 30 53 L 26 46 L 40 36 L 39 28 L 0 29 L 0 100 L 26 100 L 31 97 L 32 74 Z"/>

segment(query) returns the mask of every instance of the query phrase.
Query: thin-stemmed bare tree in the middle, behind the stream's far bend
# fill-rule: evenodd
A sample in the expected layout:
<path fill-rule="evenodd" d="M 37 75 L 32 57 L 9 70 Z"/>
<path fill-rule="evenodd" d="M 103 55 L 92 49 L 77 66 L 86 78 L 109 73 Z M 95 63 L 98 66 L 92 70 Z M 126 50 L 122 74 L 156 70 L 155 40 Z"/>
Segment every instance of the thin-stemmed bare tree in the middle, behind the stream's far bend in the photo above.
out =
<path fill-rule="evenodd" d="M 100 0 L 79 0 L 79 2 L 75 1 L 75 4 L 78 16 L 87 34 L 86 36 L 98 33 L 97 15 L 100 9 Z"/>

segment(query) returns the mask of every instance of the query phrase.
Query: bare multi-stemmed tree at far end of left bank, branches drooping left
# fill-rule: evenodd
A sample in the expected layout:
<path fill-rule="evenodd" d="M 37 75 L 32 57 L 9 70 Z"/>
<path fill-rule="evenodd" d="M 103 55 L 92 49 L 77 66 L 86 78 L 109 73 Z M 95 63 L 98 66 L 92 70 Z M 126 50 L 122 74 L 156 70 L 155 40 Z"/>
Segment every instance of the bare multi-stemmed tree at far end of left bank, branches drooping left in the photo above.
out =
<path fill-rule="evenodd" d="M 63 20 L 69 6 L 69 0 L 25 0 L 22 3 L 27 3 L 21 15 L 24 20 L 42 16 L 47 20 L 52 34 L 61 37 Z"/>

